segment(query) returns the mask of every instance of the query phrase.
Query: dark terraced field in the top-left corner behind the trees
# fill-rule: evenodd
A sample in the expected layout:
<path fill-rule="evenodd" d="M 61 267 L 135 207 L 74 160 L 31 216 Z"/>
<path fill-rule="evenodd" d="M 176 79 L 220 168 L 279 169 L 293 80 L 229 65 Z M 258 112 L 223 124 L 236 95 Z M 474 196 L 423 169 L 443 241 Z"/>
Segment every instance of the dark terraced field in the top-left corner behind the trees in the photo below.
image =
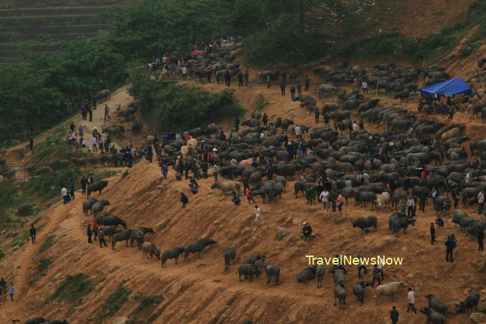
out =
<path fill-rule="evenodd" d="M 17 46 L 50 36 L 54 43 L 36 47 L 36 52 L 56 52 L 61 42 L 79 36 L 94 37 L 105 32 L 101 13 L 135 0 L 0 0 L 0 63 L 21 63 Z"/>

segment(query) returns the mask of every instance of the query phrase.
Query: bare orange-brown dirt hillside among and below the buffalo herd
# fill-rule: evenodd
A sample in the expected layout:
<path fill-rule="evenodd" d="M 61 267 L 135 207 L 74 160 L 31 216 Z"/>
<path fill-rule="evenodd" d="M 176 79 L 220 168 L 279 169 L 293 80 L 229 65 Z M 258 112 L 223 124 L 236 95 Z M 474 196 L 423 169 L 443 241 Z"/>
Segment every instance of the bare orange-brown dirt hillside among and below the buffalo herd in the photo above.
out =
<path fill-rule="evenodd" d="M 315 84 L 318 80 L 313 80 Z M 222 85 L 204 85 L 209 91 L 221 91 Z M 256 107 L 258 94 L 265 96 L 268 105 L 263 109 L 270 120 L 274 117 L 291 117 L 297 123 L 314 126 L 314 117 L 290 101 L 290 95 L 281 96 L 277 86 L 266 89 L 260 84 L 249 88 L 235 88 L 237 101 L 248 110 Z M 334 101 L 326 98 L 325 101 Z M 383 101 L 392 99 L 383 97 Z M 413 103 L 408 106 L 413 109 Z M 371 130 L 384 129 L 380 125 L 368 125 Z M 163 295 L 163 300 L 151 309 L 153 323 L 389 323 L 389 311 L 397 305 L 399 323 L 421 323 L 422 314 L 406 313 L 406 293 L 402 290 L 395 302 L 388 298 L 374 305 L 374 288 L 367 288 L 364 307 L 352 295 L 352 286 L 358 281 L 355 267 L 348 267 L 346 290 L 348 307 L 341 311 L 334 307 L 334 284 L 330 274 L 325 275 L 324 287 L 316 288 L 311 283 L 296 283 L 295 274 L 307 267 L 307 254 L 331 257 L 335 254 L 364 256 L 385 255 L 404 258 L 404 264 L 385 266 L 385 283 L 405 281 L 416 291 L 416 307 L 425 307 L 425 295 L 433 293 L 450 305 L 463 300 L 470 290 L 479 290 L 484 295 L 485 277 L 482 268 L 485 254 L 476 252 L 476 242 L 452 226 L 450 219 L 437 230 L 438 244 L 429 244 L 429 223 L 435 220 L 432 207 L 426 213 L 418 213 L 415 227 L 398 238 L 388 235 L 387 219 L 390 210 L 377 212 L 369 207 L 354 207 L 354 202 L 344 207 L 342 216 L 324 211 L 321 205 L 306 205 L 305 200 L 293 195 L 293 182 L 287 185 L 286 193 L 277 203 L 261 202 L 264 224 L 253 226 L 254 207 L 243 201 L 235 207 L 229 197 L 211 190 L 213 179 L 200 180 L 200 193 L 189 193 L 188 182 L 176 182 L 170 170 L 169 181 L 161 180 L 156 163 L 141 161 L 129 171 L 109 179 L 109 186 L 101 198 L 110 200 L 108 212 L 121 216 L 129 228 L 148 226 L 155 235 L 146 240 L 154 242 L 159 249 L 185 244 L 200 237 L 212 237 L 217 244 L 209 246 L 202 258 L 191 256 L 191 263 L 179 259 L 179 265 L 168 261 L 168 268 L 161 269 L 160 261 L 142 258 L 136 248 L 117 244 L 117 251 L 110 247 L 100 249 L 87 244 L 86 226 L 91 216 L 82 214 L 82 200 L 78 197 L 62 205 L 57 202 L 42 214 L 42 228 L 38 244 L 26 244 L 19 251 L 7 256 L 0 263 L 3 277 L 13 278 L 17 300 L 13 303 L 0 300 L 2 323 L 10 319 L 22 320 L 43 316 L 45 318 L 67 318 L 70 323 L 115 323 L 113 318 L 131 316 L 140 302 L 135 295 Z M 179 190 L 189 197 L 189 205 L 181 207 Z M 98 195 L 95 195 L 98 198 Z M 467 212 L 474 213 L 472 209 Z M 352 228 L 351 220 L 358 216 L 378 216 L 378 230 L 362 235 Z M 304 241 L 300 238 L 302 221 L 309 221 L 316 239 Z M 277 240 L 276 228 L 286 229 L 283 240 Z M 443 241 L 450 234 L 459 240 L 455 263 L 445 263 Z M 39 253 L 40 244 L 50 235 L 54 244 Z M 237 265 L 251 255 L 265 253 L 267 263 L 281 267 L 281 284 L 266 285 L 265 276 L 253 282 L 239 282 L 234 265 L 224 272 L 223 250 L 234 246 L 237 250 Z M 36 274 L 36 265 L 41 257 L 53 258 L 53 263 L 36 283 L 29 281 Z M 47 300 L 66 275 L 81 272 L 89 277 L 92 290 L 74 304 L 54 299 Z M 371 280 L 370 274 L 364 279 Z M 132 290 L 128 300 L 112 316 L 99 318 L 103 303 L 115 292 L 121 281 Z M 147 314 L 148 317 L 149 314 Z M 146 317 L 146 318 L 147 318 Z M 123 322 L 123 318 L 121 319 Z M 249 322 L 249 321 L 253 322 Z M 246 322 L 245 322 L 246 321 Z M 135 323 L 145 323 L 136 322 Z M 469 323 L 466 315 L 448 316 L 447 323 Z"/>

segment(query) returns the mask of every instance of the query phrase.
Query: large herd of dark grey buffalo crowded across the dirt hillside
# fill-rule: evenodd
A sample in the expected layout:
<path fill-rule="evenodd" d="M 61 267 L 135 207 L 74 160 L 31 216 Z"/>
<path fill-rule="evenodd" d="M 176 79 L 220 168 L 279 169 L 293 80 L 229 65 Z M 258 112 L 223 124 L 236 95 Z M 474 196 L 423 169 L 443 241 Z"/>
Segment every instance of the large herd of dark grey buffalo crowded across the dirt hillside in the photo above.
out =
<path fill-rule="evenodd" d="M 317 73 L 321 73 L 321 70 Z M 344 83 L 366 76 L 369 83 L 376 85 L 378 90 L 395 91 L 397 98 L 408 98 L 406 92 L 417 90 L 417 84 L 413 81 L 420 73 L 427 77 L 429 83 L 448 78 L 444 69 L 439 67 L 424 69 L 379 64 L 370 72 L 339 66 L 335 71 L 327 71 L 327 80 Z M 313 99 L 309 97 L 301 96 L 303 108 L 309 108 Z M 351 118 L 358 117 L 367 123 L 383 124 L 388 128 L 384 131 L 370 132 L 364 128 L 346 128 L 343 131 L 319 125 L 297 125 L 292 119 L 284 117 L 276 117 L 271 121 L 272 128 L 269 128 L 266 123 L 263 125 L 261 113 L 254 112 L 251 119 L 241 123 L 241 126 L 247 127 L 238 129 L 229 139 L 221 138 L 217 126 L 204 126 L 183 134 L 191 136 L 192 144 L 183 139 L 169 140 L 156 147 L 156 151 L 160 156 L 159 161 L 166 161 L 174 168 L 177 155 L 182 154 L 186 161 L 193 161 L 202 156 L 203 152 L 215 151 L 217 155 L 213 163 L 219 165 L 219 174 L 226 179 L 215 182 L 212 189 L 220 189 L 225 194 L 240 195 L 242 188 L 245 191 L 251 188 L 253 196 L 262 196 L 263 200 L 275 203 L 281 199 L 288 180 L 295 179 L 298 174 L 294 183 L 296 198 L 300 192 L 306 196 L 310 189 L 320 193 L 328 188 L 340 193 L 346 202 L 353 198 L 355 205 L 371 204 L 371 208 L 376 209 L 389 207 L 392 214 L 388 219 L 388 230 L 395 235 L 398 235 L 399 230 L 406 233 L 409 225 L 415 225 L 416 219 L 406 216 L 403 209 L 393 212 L 393 209 L 397 209 L 410 196 L 425 200 L 423 205 L 432 205 L 437 213 L 448 212 L 452 206 L 452 191 L 461 197 L 464 205 L 477 204 L 478 193 L 486 189 L 486 172 L 483 171 L 486 167 L 486 139 L 470 140 L 465 135 L 464 125 L 445 125 L 418 119 L 407 110 L 382 107 L 378 105 L 379 101 L 378 98 L 366 100 L 360 91 L 355 90 L 350 94 L 341 92 L 339 103 L 327 103 L 323 108 L 316 109 L 321 110 L 322 115 L 329 114 L 334 121 L 345 123 L 346 120 L 351 121 Z M 351 117 L 352 114 L 356 117 Z M 296 126 L 304 133 L 304 140 L 289 139 L 295 135 Z M 262 133 L 265 135 L 261 135 Z M 464 154 L 464 142 L 468 140 L 469 152 L 477 159 L 471 159 L 469 154 Z M 298 152 L 299 145 L 305 145 L 304 154 Z M 198 177 L 197 174 L 195 176 Z M 107 185 L 108 182 L 105 181 L 90 184 L 87 188 L 88 196 L 96 191 L 101 194 Z M 431 196 L 432 191 L 438 194 Z M 204 238 L 185 246 L 159 251 L 155 244 L 145 242 L 145 236 L 154 233 L 152 228 L 127 229 L 126 222 L 118 216 L 103 214 L 106 205 L 109 205 L 108 200 L 89 198 L 83 203 L 83 212 L 86 215 L 92 212 L 101 226 L 99 230 L 110 237 L 112 249 L 115 249 L 117 242 L 125 241 L 128 246 L 130 240 L 133 246 L 136 241 L 144 258 L 156 256 L 161 260 L 161 267 L 167 267 L 167 260 L 170 258 L 175 259 L 177 264 L 182 254 L 184 260 L 189 262 L 191 253 L 198 253 L 200 256 L 208 245 L 216 244 L 214 240 Z M 455 210 L 452 222 L 459 224 L 467 235 L 477 235 L 486 229 L 486 221 L 480 221 L 458 209 Z M 353 227 L 360 228 L 362 233 L 366 233 L 369 228 L 376 230 L 378 226 L 376 216 L 360 217 L 351 223 Z M 118 226 L 125 228 L 125 231 L 119 230 Z M 235 249 L 225 249 L 223 259 L 225 270 L 229 270 L 237 259 Z M 265 263 L 263 254 L 246 258 L 236 271 L 240 281 L 242 277 L 251 281 L 265 271 L 267 283 L 273 280 L 278 285 L 280 282 L 280 268 Z M 325 272 L 325 267 L 321 265 L 307 267 L 297 274 L 296 279 L 298 283 L 317 279 L 319 288 Z M 332 274 L 335 285 L 334 297 L 344 309 L 344 272 L 340 267 L 332 267 L 328 272 Z M 364 302 L 364 290 L 367 286 L 370 286 L 367 281 L 359 281 L 353 286 L 353 295 L 360 303 Z M 393 297 L 404 286 L 402 281 L 381 284 L 376 288 L 376 300 L 380 296 Z M 450 311 L 434 295 L 426 297 L 429 307 L 420 311 L 427 316 L 430 323 L 444 323 L 444 316 Z M 466 300 L 457 303 L 455 313 L 474 309 L 479 299 L 479 294 L 472 291 Z"/>

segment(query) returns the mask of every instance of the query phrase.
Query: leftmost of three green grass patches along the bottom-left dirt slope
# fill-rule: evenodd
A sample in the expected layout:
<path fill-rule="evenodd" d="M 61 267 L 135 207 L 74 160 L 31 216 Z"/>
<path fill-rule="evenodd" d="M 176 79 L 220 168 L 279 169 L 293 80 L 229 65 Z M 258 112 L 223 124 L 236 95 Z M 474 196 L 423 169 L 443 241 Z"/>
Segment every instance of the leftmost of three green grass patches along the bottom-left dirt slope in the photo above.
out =
<path fill-rule="evenodd" d="M 78 273 L 73 276 L 68 274 L 66 279 L 54 290 L 54 293 L 47 298 L 46 303 L 52 302 L 53 300 L 60 300 L 62 302 L 74 303 L 73 307 L 75 307 L 81 304 L 82 297 L 87 295 L 93 288 L 86 274 Z"/>

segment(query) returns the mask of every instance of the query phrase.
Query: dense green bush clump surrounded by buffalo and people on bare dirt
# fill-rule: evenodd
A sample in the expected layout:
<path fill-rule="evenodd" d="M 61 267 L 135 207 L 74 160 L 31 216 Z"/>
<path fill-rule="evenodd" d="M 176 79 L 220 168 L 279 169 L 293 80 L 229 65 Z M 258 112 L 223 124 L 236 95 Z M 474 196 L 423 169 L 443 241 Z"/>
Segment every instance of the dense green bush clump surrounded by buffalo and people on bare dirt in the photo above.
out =
<path fill-rule="evenodd" d="M 156 82 L 136 69 L 130 80 L 130 94 L 138 99 L 140 114 L 158 132 L 199 127 L 244 111 L 226 91 L 210 94 L 176 82 Z"/>

